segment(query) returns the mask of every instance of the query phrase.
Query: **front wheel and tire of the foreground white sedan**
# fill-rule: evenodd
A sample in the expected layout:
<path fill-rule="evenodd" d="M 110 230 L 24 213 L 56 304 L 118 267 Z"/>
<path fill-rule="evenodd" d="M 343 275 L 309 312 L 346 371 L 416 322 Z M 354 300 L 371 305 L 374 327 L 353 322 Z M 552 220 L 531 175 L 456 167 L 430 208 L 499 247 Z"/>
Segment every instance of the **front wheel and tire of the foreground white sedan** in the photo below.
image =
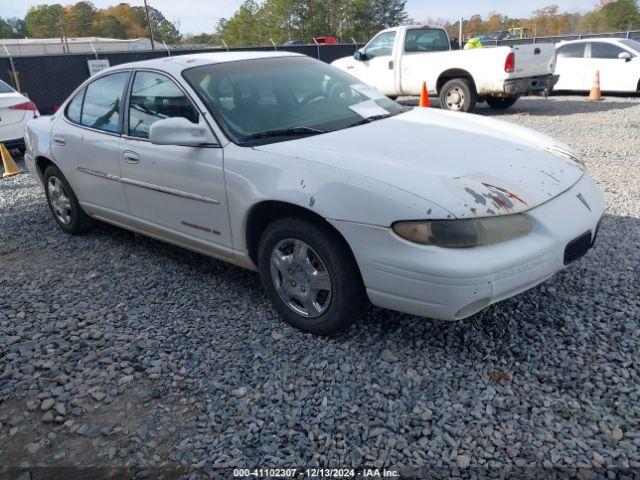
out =
<path fill-rule="evenodd" d="M 318 222 L 290 217 L 268 225 L 260 239 L 258 266 L 280 315 L 304 332 L 334 335 L 368 306 L 349 246 Z"/>

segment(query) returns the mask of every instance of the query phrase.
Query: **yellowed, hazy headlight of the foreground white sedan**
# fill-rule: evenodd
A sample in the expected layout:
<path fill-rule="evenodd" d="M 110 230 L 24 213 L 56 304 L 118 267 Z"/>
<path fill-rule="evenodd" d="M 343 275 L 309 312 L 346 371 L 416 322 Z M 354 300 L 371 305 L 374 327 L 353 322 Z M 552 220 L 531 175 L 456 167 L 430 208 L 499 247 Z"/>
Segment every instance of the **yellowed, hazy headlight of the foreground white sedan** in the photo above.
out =
<path fill-rule="evenodd" d="M 521 214 L 464 220 L 396 222 L 393 231 L 410 242 L 445 248 L 468 248 L 526 235 L 531 223 Z"/>

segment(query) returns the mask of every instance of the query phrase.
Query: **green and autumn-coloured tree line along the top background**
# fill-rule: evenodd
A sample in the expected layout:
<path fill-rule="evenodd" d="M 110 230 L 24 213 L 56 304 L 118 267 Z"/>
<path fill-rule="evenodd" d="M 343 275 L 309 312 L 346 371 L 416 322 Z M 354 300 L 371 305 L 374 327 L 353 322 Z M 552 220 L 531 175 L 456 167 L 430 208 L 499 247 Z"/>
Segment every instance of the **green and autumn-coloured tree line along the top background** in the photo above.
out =
<path fill-rule="evenodd" d="M 587 13 L 562 12 L 557 5 L 535 10 L 528 18 L 510 18 L 499 12 L 463 20 L 466 35 L 523 28 L 530 36 L 601 33 L 640 28 L 639 0 L 599 0 Z M 166 43 L 203 43 L 230 46 L 269 45 L 271 41 L 301 40 L 330 35 L 342 42 L 364 42 L 378 30 L 407 23 L 444 25 L 458 36 L 459 21 L 412 19 L 406 0 L 245 0 L 230 18 L 212 25 L 210 32 L 182 35 L 179 24 L 149 7 L 154 37 Z M 465 36 L 466 36 L 465 35 Z M 31 7 L 24 18 L 0 18 L 0 38 L 54 38 L 148 36 L 143 7 L 127 3 L 96 8 L 91 2 Z"/>

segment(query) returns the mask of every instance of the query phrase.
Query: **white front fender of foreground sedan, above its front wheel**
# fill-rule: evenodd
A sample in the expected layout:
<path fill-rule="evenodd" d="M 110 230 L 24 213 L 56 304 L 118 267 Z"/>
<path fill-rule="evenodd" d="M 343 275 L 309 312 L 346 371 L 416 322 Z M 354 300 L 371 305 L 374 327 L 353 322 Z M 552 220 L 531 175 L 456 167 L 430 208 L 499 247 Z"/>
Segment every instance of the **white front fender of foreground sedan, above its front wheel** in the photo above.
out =
<path fill-rule="evenodd" d="M 330 221 L 381 227 L 398 220 L 453 216 L 428 200 L 364 175 L 233 144 L 225 148 L 225 179 L 234 248 L 245 252 L 248 212 L 268 200 L 305 208 Z"/>

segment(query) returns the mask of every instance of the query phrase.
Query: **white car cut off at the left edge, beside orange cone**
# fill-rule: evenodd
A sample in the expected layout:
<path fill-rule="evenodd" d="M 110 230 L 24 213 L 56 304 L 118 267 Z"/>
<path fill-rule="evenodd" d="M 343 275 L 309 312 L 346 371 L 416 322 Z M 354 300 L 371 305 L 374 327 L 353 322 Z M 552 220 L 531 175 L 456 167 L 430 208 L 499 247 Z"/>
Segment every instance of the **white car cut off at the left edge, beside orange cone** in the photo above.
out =
<path fill-rule="evenodd" d="M 0 143 L 24 150 L 24 128 L 38 115 L 35 103 L 0 80 Z"/>

